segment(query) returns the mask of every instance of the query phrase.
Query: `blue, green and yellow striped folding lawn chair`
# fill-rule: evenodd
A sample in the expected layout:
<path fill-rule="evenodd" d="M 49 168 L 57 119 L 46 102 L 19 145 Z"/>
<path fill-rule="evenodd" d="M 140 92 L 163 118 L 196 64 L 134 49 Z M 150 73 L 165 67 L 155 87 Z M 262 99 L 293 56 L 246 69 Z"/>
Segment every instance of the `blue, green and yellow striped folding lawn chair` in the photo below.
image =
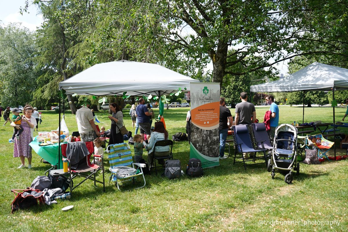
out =
<path fill-rule="evenodd" d="M 109 179 L 109 183 L 112 180 L 113 182 L 115 182 L 117 189 L 121 191 L 120 183 L 132 181 L 134 184 L 135 178 L 142 176 L 144 179 L 144 185 L 141 187 L 136 187 L 135 189 L 140 189 L 146 185 L 142 169 L 146 167 L 146 165 L 144 163 L 133 163 L 132 153 L 128 144 L 111 144 L 108 147 L 106 147 L 105 152 L 108 154 L 110 163 L 109 170 L 111 171 L 111 176 Z M 140 170 L 136 170 L 134 168 L 134 165 L 139 167 Z M 125 171 L 129 172 L 125 173 Z"/>

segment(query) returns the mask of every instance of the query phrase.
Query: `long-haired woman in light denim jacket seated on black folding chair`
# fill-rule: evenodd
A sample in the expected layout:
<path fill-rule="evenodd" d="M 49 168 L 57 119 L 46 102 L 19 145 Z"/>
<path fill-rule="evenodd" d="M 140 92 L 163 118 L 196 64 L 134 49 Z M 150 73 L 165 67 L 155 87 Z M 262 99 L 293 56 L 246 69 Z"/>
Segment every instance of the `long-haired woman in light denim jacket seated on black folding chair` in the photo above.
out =
<path fill-rule="evenodd" d="M 169 146 L 159 146 L 155 148 L 155 143 L 160 140 L 168 139 L 168 131 L 164 128 L 163 122 L 156 122 L 155 128 L 151 133 L 150 143 L 146 146 L 148 150 L 148 163 L 152 164 L 153 155 L 156 157 L 164 157 L 170 154 Z M 164 160 L 159 160 L 160 165 L 164 165 Z"/>

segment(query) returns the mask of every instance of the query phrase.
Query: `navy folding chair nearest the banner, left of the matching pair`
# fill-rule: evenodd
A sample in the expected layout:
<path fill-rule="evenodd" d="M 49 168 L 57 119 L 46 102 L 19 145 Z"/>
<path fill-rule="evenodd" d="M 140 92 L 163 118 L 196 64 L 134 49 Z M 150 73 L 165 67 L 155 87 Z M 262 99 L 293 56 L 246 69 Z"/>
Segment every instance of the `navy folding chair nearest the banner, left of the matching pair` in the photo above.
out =
<path fill-rule="evenodd" d="M 233 164 L 243 162 L 244 169 L 246 170 L 247 165 L 245 165 L 245 162 L 247 161 L 255 162 L 256 159 L 264 158 L 264 161 L 265 161 L 264 163 L 266 163 L 266 166 L 267 166 L 266 149 L 258 149 L 258 150 L 254 149 L 247 125 L 237 125 L 237 126 L 232 126 L 232 128 L 234 131 L 233 138 L 235 140 L 235 158 L 233 160 Z M 246 161 L 243 156 L 243 153 L 246 153 L 246 152 L 255 152 L 254 158 L 252 160 Z M 263 152 L 263 157 L 262 156 L 256 157 L 256 152 Z M 243 161 L 236 162 L 237 153 L 242 153 Z M 250 165 L 254 165 L 254 164 L 260 164 L 260 163 L 252 163 Z"/>

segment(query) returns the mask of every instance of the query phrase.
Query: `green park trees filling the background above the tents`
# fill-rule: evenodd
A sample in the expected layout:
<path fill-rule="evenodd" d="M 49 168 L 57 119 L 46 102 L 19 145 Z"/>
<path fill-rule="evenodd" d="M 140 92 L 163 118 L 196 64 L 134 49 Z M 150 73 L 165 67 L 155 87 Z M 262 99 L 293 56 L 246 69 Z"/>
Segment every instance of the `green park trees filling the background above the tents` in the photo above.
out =
<path fill-rule="evenodd" d="M 290 73 L 314 61 L 347 67 L 346 0 L 23 0 L 24 14 L 30 4 L 44 17 L 38 30 L 0 28 L 4 105 L 47 107 L 58 100 L 58 82 L 119 59 L 158 63 L 219 82 L 231 103 L 262 82 L 254 80 L 277 79 L 272 65 L 286 59 Z M 12 54 L 19 54 L 17 46 L 24 42 L 15 60 Z M 205 71 L 209 62 L 212 72 Z M 288 94 L 288 101 L 295 104 L 295 96 Z M 312 104 L 330 99 L 325 93 L 306 96 Z M 73 113 L 77 100 L 68 96 Z"/>

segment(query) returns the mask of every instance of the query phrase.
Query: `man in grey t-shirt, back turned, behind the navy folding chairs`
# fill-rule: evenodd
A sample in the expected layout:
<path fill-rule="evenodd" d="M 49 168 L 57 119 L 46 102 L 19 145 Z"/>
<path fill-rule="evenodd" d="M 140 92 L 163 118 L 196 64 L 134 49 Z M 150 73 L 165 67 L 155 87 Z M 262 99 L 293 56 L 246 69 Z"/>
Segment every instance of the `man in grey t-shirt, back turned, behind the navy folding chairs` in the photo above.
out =
<path fill-rule="evenodd" d="M 236 105 L 236 116 L 235 116 L 235 123 L 238 124 L 244 124 L 248 126 L 248 130 L 252 133 L 251 130 L 251 123 L 255 122 L 256 119 L 256 110 L 253 103 L 247 102 L 248 101 L 248 95 L 245 92 L 240 93 L 240 99 L 242 102 L 238 103 Z M 254 154 L 251 152 L 251 156 Z M 248 153 L 243 153 L 244 159 L 248 159 Z"/>

